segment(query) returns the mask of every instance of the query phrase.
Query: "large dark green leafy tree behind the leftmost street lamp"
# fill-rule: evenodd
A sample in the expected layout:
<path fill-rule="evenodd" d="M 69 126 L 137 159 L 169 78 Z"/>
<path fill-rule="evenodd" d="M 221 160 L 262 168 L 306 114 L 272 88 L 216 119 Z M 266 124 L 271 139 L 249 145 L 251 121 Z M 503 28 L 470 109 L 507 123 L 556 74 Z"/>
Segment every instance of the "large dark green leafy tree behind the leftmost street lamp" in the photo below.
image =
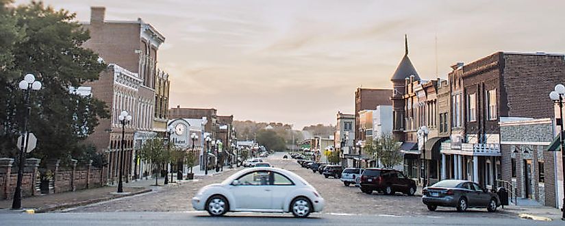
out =
<path fill-rule="evenodd" d="M 30 101 L 29 130 L 38 137 L 32 155 L 62 162 L 82 158 L 88 151 L 81 141 L 108 112 L 102 101 L 73 94 L 69 88 L 98 79 L 105 64 L 98 61 L 96 53 L 82 47 L 90 35 L 75 21 L 75 14 L 41 2 L 16 8 L 6 6 L 8 2 L 0 0 L 0 27 L 8 31 L 8 36 L 3 33 L 1 38 L 14 38 L 0 42 L 8 45 L 0 46 L 0 155 L 16 156 L 14 141 L 25 115 L 23 92 L 17 83 L 25 73 L 33 73 L 43 87 L 32 93 Z"/>

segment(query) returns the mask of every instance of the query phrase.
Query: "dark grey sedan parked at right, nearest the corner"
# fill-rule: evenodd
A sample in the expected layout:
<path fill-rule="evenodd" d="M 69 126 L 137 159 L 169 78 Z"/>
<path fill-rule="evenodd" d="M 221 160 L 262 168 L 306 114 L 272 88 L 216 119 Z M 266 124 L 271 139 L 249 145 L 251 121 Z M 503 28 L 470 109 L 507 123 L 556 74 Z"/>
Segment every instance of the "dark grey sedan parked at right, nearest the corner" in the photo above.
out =
<path fill-rule="evenodd" d="M 422 201 L 430 211 L 445 206 L 457 208 L 459 212 L 467 208 L 486 208 L 488 212 L 496 212 L 501 205 L 498 194 L 481 188 L 473 181 L 442 180 L 424 188 L 422 194 Z"/>

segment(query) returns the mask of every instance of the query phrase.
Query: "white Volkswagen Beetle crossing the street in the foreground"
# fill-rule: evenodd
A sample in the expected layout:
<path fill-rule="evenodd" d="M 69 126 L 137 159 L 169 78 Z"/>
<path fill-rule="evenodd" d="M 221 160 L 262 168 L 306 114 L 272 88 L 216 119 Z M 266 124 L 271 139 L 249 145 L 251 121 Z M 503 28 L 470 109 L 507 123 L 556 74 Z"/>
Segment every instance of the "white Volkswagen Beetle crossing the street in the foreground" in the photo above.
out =
<path fill-rule="evenodd" d="M 281 168 L 243 169 L 221 184 L 201 188 L 192 198 L 194 210 L 212 216 L 226 212 L 292 212 L 307 217 L 324 208 L 324 199 L 299 175 Z"/>

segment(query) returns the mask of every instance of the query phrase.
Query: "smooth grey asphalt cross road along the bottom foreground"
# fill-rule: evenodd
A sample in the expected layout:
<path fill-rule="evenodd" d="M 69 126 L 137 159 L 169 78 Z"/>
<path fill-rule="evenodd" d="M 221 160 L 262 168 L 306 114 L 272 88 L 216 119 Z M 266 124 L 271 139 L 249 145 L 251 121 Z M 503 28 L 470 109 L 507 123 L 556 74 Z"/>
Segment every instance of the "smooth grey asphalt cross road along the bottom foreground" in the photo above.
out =
<path fill-rule="evenodd" d="M 293 218 L 288 214 L 231 213 L 211 217 L 205 212 L 94 212 L 49 214 L 3 214 L 0 225 L 563 225 L 560 221 L 528 221 L 518 218 L 450 216 L 381 216 L 312 214 Z"/>

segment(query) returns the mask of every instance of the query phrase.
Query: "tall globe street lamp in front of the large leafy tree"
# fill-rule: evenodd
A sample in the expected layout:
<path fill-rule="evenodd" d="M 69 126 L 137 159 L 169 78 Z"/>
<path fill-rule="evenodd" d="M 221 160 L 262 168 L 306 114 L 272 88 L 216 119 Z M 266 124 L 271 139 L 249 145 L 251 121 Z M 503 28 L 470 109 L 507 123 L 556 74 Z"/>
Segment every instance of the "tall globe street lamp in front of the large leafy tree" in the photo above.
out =
<path fill-rule="evenodd" d="M 36 81 L 36 77 L 32 74 L 27 74 L 23 77 L 23 80 L 18 84 L 21 90 L 25 90 L 25 105 L 27 106 L 27 112 L 23 119 L 23 130 L 22 130 L 22 142 L 20 148 L 20 164 L 18 167 L 18 180 L 16 182 L 16 190 L 14 191 L 14 201 L 12 201 L 12 209 L 22 208 L 22 177 L 23 177 L 23 166 L 25 159 L 25 151 L 27 150 L 27 141 L 29 138 L 29 131 L 27 131 L 27 120 L 29 115 L 32 114 L 32 107 L 29 105 L 29 90 L 40 90 L 41 82 Z"/>

